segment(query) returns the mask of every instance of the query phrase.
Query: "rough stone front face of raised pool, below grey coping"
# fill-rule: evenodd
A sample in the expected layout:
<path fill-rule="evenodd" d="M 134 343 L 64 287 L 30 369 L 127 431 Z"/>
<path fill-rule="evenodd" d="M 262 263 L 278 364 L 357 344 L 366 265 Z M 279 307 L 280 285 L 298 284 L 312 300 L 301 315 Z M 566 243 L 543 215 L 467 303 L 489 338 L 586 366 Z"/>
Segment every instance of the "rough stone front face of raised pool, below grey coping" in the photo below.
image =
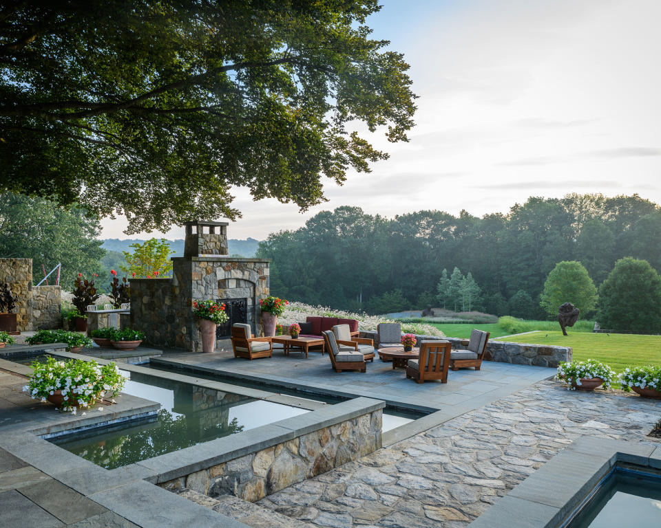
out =
<path fill-rule="evenodd" d="M 375 410 L 158 485 L 255 502 L 381 448 L 381 420 Z"/>

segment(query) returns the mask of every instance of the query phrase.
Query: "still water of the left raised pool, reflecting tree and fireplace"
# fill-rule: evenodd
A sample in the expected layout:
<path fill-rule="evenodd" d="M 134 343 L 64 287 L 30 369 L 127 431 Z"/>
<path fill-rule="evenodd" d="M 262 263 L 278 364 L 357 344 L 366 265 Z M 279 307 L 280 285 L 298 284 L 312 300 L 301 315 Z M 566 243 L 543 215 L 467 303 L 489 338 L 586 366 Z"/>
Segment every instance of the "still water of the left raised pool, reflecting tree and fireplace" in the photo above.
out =
<path fill-rule="evenodd" d="M 131 378 L 124 392 L 158 401 L 158 417 L 52 441 L 113 469 L 307 412 L 138 373 Z"/>

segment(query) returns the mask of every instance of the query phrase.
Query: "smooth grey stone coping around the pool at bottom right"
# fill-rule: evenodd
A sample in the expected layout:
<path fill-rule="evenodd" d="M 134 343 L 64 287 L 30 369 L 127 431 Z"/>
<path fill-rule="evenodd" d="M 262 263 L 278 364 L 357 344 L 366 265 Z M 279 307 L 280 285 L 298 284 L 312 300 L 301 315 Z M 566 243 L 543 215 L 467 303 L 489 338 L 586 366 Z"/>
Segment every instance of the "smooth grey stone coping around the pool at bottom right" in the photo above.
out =
<path fill-rule="evenodd" d="M 661 469 L 658 444 L 580 438 L 514 487 L 470 528 L 557 528 L 574 516 L 618 465 Z"/>

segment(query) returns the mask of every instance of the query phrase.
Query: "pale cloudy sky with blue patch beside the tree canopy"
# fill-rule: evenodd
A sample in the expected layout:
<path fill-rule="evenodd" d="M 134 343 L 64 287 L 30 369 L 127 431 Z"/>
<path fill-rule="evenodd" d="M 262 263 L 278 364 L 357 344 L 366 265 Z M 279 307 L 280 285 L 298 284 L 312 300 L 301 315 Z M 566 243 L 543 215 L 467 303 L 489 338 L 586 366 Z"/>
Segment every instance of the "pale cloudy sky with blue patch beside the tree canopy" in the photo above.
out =
<path fill-rule="evenodd" d="M 408 143 L 372 172 L 326 179 L 328 201 L 299 212 L 233 188 L 231 238 L 265 239 L 322 210 L 393 217 L 423 209 L 482 216 L 527 197 L 633 194 L 661 203 L 661 2 L 384 0 L 368 19 L 411 65 L 419 96 Z M 223 220 L 223 219 L 217 219 Z M 104 219 L 103 238 L 127 238 Z M 173 226 L 165 236 L 182 238 Z"/>

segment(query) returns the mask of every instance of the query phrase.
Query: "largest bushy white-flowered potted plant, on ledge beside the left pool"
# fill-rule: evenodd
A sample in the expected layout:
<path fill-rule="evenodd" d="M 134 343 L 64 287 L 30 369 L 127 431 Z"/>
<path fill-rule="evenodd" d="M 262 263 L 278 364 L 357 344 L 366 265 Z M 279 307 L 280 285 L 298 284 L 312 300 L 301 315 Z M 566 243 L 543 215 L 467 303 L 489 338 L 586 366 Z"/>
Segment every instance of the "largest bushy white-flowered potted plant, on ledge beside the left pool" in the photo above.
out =
<path fill-rule="evenodd" d="M 23 391 L 32 399 L 50 401 L 72 414 L 79 408 L 94 406 L 104 397 L 112 399 L 126 382 L 114 363 L 100 366 L 96 361 L 61 361 L 50 357 L 43 363 L 32 363 L 31 368 L 32 375 Z"/>

